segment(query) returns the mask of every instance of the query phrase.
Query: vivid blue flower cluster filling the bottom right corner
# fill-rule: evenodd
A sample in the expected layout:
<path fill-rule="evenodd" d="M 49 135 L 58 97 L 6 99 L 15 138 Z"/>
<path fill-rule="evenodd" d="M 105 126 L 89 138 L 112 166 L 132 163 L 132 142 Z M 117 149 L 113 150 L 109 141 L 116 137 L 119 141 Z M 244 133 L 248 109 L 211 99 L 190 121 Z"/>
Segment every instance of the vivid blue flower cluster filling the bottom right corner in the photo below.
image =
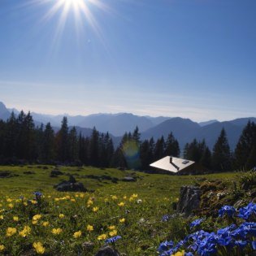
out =
<path fill-rule="evenodd" d="M 248 206 L 245 206 L 239 210 L 239 215 L 242 219 L 252 218 L 255 215 L 256 204 L 250 202 Z M 219 215 L 223 216 L 227 214 L 229 217 L 235 215 L 235 208 L 232 206 L 223 206 L 219 210 Z M 203 219 L 196 219 L 190 227 L 194 227 L 202 223 Z M 189 255 L 202 255 L 210 256 L 219 252 L 219 249 L 226 248 L 228 255 L 231 249 L 237 249 L 242 251 L 252 251 L 256 249 L 256 223 L 244 222 L 240 225 L 232 224 L 226 228 L 220 228 L 217 232 L 205 232 L 203 230 L 193 232 L 186 236 L 184 240 L 174 243 L 173 241 L 164 241 L 158 247 L 158 252 L 161 256 L 167 256 L 176 254 L 180 249 L 184 248 L 187 252 L 184 252 L 185 256 Z"/>

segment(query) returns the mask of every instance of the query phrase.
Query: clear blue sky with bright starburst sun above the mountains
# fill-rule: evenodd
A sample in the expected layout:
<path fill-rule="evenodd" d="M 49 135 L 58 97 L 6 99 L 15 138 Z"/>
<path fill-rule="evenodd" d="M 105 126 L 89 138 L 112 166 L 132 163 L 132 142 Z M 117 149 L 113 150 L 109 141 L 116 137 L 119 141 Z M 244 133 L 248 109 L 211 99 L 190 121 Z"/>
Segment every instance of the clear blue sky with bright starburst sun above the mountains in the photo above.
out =
<path fill-rule="evenodd" d="M 0 0 L 0 101 L 45 114 L 256 116 L 255 0 Z"/>

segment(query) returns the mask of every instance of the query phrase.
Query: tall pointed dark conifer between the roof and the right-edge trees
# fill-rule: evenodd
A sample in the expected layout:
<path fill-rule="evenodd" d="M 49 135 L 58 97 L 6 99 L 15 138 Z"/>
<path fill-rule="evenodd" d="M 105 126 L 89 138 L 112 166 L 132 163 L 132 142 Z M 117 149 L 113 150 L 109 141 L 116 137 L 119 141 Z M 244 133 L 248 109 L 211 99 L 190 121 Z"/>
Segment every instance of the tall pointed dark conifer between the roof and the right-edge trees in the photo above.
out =
<path fill-rule="evenodd" d="M 215 171 L 231 170 L 231 153 L 224 128 L 221 130 L 213 148 L 212 167 Z"/>

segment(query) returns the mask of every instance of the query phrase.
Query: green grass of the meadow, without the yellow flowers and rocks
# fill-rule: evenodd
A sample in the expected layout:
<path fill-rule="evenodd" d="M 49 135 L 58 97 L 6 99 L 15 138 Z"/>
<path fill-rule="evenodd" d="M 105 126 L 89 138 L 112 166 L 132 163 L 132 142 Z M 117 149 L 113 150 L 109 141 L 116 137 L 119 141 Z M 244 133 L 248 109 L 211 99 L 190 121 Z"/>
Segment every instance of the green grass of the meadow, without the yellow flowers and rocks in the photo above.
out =
<path fill-rule="evenodd" d="M 102 232 L 107 233 L 107 226 L 115 225 L 118 234 L 123 238 L 118 241 L 117 249 L 123 255 L 157 255 L 156 249 L 160 241 L 165 239 L 175 239 L 183 236 L 186 230 L 180 229 L 184 227 L 184 219 L 175 219 L 168 223 L 161 222 L 161 218 L 165 214 L 172 214 L 171 202 L 176 202 L 179 197 L 180 186 L 184 184 L 193 184 L 200 178 L 209 180 L 221 179 L 236 180 L 235 173 L 224 173 L 207 176 L 167 176 L 157 174 L 146 174 L 136 172 L 137 182 L 118 181 L 117 184 L 111 180 L 89 179 L 83 176 L 111 176 L 119 180 L 124 176 L 131 175 L 134 171 L 119 171 L 116 169 L 98 169 L 93 167 L 59 167 L 59 171 L 72 174 L 77 181 L 85 184 L 89 190 L 95 190 L 94 193 L 86 193 L 85 198 L 76 197 L 76 193 L 69 193 L 71 197 L 76 199 L 76 204 L 72 204 L 69 200 L 65 202 L 54 202 L 51 198 L 63 197 L 64 193 L 56 192 L 53 188 L 54 184 L 58 184 L 62 180 L 68 180 L 66 175 L 51 178 L 50 171 L 54 167 L 48 166 L 44 169 L 42 166 L 24 166 L 24 167 L 0 167 L 0 171 L 11 171 L 12 174 L 18 175 L 10 178 L 0 179 L 0 203 L 2 203 L 4 211 L 4 222 L 0 236 L 4 237 L 7 227 L 15 227 L 12 217 L 18 215 L 20 221 L 17 224 L 18 229 L 28 224 L 33 227 L 33 234 L 28 237 L 27 247 L 31 247 L 33 241 L 43 241 L 46 245 L 46 252 L 49 255 L 76 255 L 82 252 L 82 255 L 93 255 L 99 247 L 104 245 L 102 241 L 98 241 L 97 237 Z M 34 171 L 35 174 L 24 174 L 24 171 Z M 26 213 L 19 210 L 19 207 L 8 210 L 7 197 L 12 199 L 19 198 L 21 195 L 32 198 L 33 191 L 41 191 L 46 195 L 49 206 L 46 209 L 38 211 L 33 210 L 33 214 L 42 214 L 44 220 L 50 221 L 50 227 L 47 230 L 41 230 L 39 225 L 33 226 Z M 124 200 L 124 196 L 131 197 L 132 193 L 138 194 L 138 197 L 129 202 L 128 198 Z M 111 199 L 111 195 L 116 195 L 118 200 L 115 202 Z M 48 199 L 48 196 L 51 196 Z M 86 207 L 89 197 L 94 197 L 95 206 L 99 206 L 98 213 L 93 213 L 91 208 Z M 141 199 L 142 203 L 137 204 L 137 199 Z M 108 202 L 105 202 L 105 200 Z M 125 202 L 124 207 L 119 207 L 119 202 Z M 56 207 L 56 205 L 58 207 Z M 1 207 L 0 207 L 1 208 Z M 63 213 L 67 219 L 59 219 L 59 213 Z M 80 219 L 76 224 L 70 223 L 71 216 L 78 215 Z M 125 218 L 125 223 L 120 224 L 119 218 Z M 31 216 L 30 216 L 31 218 Z M 65 217 L 66 218 L 66 217 Z M 141 220 L 142 219 L 142 220 Z M 93 224 L 93 234 L 87 234 L 85 227 L 87 224 Z M 50 233 L 51 228 L 60 226 L 65 230 L 65 234 L 60 241 L 67 241 L 65 246 L 59 247 L 55 241 L 55 236 Z M 79 239 L 72 238 L 73 232 L 77 230 L 83 231 L 83 236 Z M 179 234 L 180 233 L 180 234 Z M 11 239 L 14 239 L 12 241 Z M 57 240 L 58 241 L 58 240 Z M 60 242 L 59 241 L 59 242 Z M 92 249 L 84 251 L 81 244 L 85 241 L 93 241 Z M 20 241 L 16 236 L 14 238 L 5 238 L 6 247 L 13 255 L 23 255 L 27 249 L 24 248 L 24 241 Z M 8 247 L 9 246 L 9 247 Z M 30 249 L 33 251 L 33 249 Z"/>

